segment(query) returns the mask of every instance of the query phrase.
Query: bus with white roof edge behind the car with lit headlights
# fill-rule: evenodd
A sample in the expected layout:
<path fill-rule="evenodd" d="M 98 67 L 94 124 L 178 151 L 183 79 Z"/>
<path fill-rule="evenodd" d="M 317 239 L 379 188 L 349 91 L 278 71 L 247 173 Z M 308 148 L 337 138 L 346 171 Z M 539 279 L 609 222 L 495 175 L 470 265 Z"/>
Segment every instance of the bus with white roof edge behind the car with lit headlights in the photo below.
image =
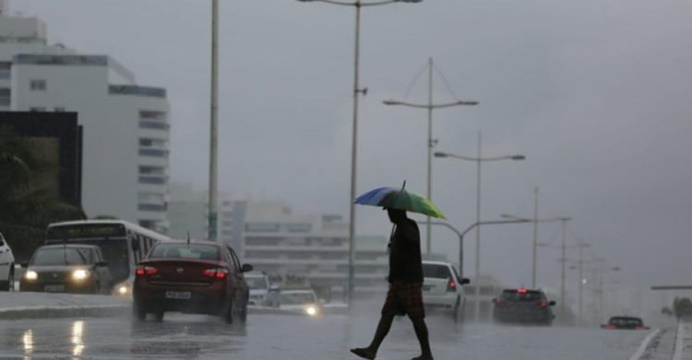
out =
<path fill-rule="evenodd" d="M 48 225 L 45 244 L 98 245 L 113 277 L 112 294 L 130 297 L 137 263 L 155 243 L 169 240 L 127 221 L 81 220 Z"/>

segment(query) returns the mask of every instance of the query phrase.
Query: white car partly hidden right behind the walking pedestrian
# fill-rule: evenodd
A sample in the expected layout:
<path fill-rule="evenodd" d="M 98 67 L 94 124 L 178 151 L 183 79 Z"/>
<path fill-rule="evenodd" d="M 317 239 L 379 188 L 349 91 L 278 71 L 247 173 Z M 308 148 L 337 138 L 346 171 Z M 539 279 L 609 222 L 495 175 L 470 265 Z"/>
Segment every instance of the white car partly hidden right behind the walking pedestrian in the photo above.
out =
<path fill-rule="evenodd" d="M 457 321 L 466 305 L 463 285 L 468 283 L 469 280 L 460 278 L 450 263 L 423 261 L 423 304 L 426 308 L 449 310 Z"/>

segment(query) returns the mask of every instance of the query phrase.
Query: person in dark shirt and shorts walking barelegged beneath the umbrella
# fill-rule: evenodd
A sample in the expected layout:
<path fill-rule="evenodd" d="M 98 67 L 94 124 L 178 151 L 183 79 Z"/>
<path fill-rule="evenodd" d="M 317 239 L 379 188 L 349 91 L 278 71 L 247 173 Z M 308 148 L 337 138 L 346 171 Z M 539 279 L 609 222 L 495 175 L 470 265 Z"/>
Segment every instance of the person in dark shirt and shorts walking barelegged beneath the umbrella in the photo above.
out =
<path fill-rule="evenodd" d="M 406 211 L 385 209 L 389 220 L 394 224 L 389 242 L 389 291 L 372 342 L 368 347 L 354 348 L 351 352 L 364 359 L 375 359 L 394 317 L 408 315 L 421 347 L 421 355 L 412 360 L 433 360 L 423 307 L 420 231 L 416 222 L 406 216 Z"/>

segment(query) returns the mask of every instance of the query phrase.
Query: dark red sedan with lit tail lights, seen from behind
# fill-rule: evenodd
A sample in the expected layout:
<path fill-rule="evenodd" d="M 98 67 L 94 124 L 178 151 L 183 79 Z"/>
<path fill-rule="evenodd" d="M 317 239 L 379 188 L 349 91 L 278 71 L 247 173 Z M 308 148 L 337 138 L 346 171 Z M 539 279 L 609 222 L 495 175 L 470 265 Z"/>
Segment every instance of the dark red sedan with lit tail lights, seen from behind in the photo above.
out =
<path fill-rule="evenodd" d="M 232 248 L 210 241 L 155 245 L 139 263 L 133 286 L 133 312 L 158 321 L 167 311 L 220 315 L 227 323 L 245 322 L 249 289 Z"/>

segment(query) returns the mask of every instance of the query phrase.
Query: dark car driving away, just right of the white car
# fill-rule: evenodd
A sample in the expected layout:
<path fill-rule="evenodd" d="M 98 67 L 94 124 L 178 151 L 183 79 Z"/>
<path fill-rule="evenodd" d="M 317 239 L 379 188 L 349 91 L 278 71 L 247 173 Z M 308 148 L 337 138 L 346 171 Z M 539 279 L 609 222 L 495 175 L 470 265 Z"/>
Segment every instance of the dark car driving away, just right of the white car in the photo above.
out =
<path fill-rule="evenodd" d="M 551 309 L 555 301 L 549 301 L 541 290 L 506 289 L 493 303 L 497 323 L 551 325 L 555 318 Z"/>

